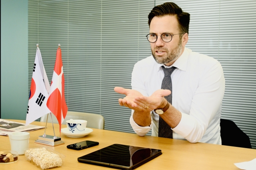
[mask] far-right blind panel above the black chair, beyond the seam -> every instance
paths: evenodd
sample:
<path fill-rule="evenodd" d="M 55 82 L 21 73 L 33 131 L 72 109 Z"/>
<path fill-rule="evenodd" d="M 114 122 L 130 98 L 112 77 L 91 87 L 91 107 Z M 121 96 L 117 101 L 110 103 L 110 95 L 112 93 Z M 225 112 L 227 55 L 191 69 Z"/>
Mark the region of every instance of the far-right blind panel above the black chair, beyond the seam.
<path fill-rule="evenodd" d="M 256 1 L 220 1 L 220 49 L 226 90 L 222 117 L 256 148 Z"/>

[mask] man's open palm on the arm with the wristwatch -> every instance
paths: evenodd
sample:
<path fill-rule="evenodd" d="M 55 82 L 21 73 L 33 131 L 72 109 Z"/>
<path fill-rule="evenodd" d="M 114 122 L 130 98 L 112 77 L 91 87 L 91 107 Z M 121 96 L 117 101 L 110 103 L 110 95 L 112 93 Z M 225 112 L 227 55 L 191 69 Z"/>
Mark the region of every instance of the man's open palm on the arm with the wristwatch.
<path fill-rule="evenodd" d="M 148 106 L 148 109 L 150 111 L 157 109 L 157 108 L 163 108 L 166 104 L 166 100 L 164 99 L 164 96 L 168 96 L 171 94 L 170 90 L 164 90 L 159 89 L 155 91 L 150 97 L 146 96 L 138 96 L 135 97 L 134 103 L 136 103 L 138 106 Z"/>

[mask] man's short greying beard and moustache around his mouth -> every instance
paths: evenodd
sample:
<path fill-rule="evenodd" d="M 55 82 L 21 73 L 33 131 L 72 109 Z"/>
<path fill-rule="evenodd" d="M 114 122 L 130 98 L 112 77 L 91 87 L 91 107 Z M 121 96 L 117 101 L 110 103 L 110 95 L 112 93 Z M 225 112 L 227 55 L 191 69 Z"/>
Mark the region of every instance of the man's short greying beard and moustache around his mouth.
<path fill-rule="evenodd" d="M 156 62 L 158 64 L 167 64 L 171 61 L 174 61 L 176 58 L 178 58 L 180 56 L 180 53 L 182 51 L 182 39 L 180 39 L 177 47 L 172 49 L 172 51 L 170 51 L 170 52 L 169 52 L 168 48 L 164 48 L 164 47 L 162 47 L 162 48 L 161 47 L 155 47 L 154 51 L 156 51 L 156 50 L 166 51 L 166 55 L 164 55 L 162 57 L 158 57 L 157 55 L 155 55 L 155 53 L 151 49 L 152 55 L 153 55 L 154 59 L 156 60 Z"/>

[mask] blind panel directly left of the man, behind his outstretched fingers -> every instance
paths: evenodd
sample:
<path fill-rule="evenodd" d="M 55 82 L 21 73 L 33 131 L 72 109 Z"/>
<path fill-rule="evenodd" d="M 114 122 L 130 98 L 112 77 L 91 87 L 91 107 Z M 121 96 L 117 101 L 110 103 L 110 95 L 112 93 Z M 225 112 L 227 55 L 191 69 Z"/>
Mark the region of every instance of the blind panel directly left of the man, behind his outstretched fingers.
<path fill-rule="evenodd" d="M 153 1 L 150 4 L 146 0 L 102 1 L 100 109 L 110 130 L 134 132 L 129 123 L 131 111 L 119 106 L 117 99 L 123 96 L 114 93 L 113 89 L 115 86 L 131 88 L 134 64 L 139 57 L 150 55 L 145 36 L 148 32 L 147 13 L 153 6 Z M 140 27 L 145 30 L 141 31 Z M 144 46 L 139 47 L 139 41 Z M 139 55 L 139 51 L 146 52 Z"/>

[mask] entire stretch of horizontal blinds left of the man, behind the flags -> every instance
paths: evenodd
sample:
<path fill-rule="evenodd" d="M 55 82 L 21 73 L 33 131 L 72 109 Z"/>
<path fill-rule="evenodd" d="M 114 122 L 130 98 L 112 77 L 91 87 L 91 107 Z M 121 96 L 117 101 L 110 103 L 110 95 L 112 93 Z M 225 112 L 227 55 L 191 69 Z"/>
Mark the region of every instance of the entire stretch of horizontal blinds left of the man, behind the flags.
<path fill-rule="evenodd" d="M 114 87 L 131 88 L 134 64 L 151 55 L 145 36 L 153 7 L 154 0 L 29 0 L 29 77 L 39 43 L 51 81 L 60 43 L 69 111 L 100 114 L 105 129 L 134 133 Z"/>

